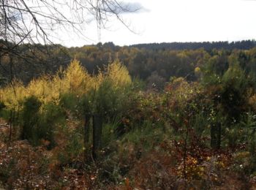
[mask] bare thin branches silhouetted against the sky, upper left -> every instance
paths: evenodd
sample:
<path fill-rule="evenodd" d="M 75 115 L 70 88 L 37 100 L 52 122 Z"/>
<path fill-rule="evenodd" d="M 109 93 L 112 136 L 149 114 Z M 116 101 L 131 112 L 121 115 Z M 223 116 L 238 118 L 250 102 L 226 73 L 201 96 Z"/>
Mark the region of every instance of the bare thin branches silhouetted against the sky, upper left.
<path fill-rule="evenodd" d="M 84 36 L 81 31 L 91 20 L 97 21 L 100 30 L 113 16 L 132 31 L 121 14 L 138 9 L 116 0 L 1 0 L 0 39 L 17 42 L 31 31 L 23 42 L 49 44 L 57 27 L 72 28 Z"/>

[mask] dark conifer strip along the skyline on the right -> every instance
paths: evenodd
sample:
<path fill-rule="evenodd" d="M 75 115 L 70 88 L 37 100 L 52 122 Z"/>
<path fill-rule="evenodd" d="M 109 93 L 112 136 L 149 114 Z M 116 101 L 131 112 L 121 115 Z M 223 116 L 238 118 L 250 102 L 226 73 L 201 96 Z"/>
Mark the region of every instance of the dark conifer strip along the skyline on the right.
<path fill-rule="evenodd" d="M 196 50 L 199 48 L 204 48 L 205 50 L 249 50 L 252 47 L 256 47 L 256 42 L 255 40 L 243 40 L 238 42 L 163 42 L 130 45 L 129 47 L 146 48 L 147 50 Z"/>

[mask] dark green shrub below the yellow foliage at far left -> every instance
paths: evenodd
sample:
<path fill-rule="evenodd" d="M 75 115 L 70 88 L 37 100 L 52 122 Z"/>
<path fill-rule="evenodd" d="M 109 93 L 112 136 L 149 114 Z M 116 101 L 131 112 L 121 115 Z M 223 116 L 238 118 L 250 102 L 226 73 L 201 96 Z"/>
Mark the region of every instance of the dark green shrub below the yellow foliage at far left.
<path fill-rule="evenodd" d="M 48 140 L 48 148 L 53 148 L 54 127 L 64 123 L 64 113 L 59 105 L 42 105 L 35 96 L 30 96 L 23 103 L 21 139 L 29 140 L 31 145 L 40 145 L 41 140 Z"/>

